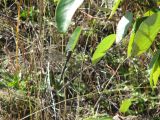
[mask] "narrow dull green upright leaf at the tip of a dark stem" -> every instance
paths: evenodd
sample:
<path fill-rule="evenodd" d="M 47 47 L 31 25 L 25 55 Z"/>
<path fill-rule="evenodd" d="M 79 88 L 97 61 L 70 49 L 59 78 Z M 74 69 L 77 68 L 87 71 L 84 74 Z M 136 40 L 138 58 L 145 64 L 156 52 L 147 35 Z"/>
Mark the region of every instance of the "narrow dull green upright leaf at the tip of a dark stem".
<path fill-rule="evenodd" d="M 66 52 L 68 52 L 68 51 L 73 52 L 73 50 L 78 42 L 81 31 L 82 31 L 82 27 L 79 27 L 79 26 L 74 30 L 74 32 L 72 33 L 72 35 L 69 39 L 69 42 L 66 46 Z"/>

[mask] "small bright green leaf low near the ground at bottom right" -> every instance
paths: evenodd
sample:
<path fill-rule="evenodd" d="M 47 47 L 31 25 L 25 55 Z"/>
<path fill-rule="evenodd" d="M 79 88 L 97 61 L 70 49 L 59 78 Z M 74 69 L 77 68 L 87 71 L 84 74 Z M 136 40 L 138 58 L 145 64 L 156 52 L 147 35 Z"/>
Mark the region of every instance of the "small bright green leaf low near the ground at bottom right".
<path fill-rule="evenodd" d="M 125 113 L 129 110 L 129 107 L 132 105 L 133 99 L 125 99 L 122 101 L 122 104 L 120 105 L 119 111 L 121 113 Z"/>

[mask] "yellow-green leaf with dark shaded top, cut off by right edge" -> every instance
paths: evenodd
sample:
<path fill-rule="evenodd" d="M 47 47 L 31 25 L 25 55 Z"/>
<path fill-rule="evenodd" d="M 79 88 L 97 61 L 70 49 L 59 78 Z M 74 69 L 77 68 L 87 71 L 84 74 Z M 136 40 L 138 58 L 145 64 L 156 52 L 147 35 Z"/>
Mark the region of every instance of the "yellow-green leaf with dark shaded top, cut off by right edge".
<path fill-rule="evenodd" d="M 150 63 L 150 85 L 154 88 L 157 85 L 160 76 L 160 50 L 153 56 Z"/>

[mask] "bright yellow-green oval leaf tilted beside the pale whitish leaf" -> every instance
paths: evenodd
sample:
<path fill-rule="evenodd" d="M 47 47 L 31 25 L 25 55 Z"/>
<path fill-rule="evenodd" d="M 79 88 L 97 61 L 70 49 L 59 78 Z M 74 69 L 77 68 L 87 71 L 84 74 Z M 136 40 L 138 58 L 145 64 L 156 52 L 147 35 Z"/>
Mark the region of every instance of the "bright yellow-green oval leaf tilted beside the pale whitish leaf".
<path fill-rule="evenodd" d="M 92 57 L 92 64 L 96 64 L 107 52 L 107 50 L 111 47 L 116 39 L 115 34 L 111 34 L 105 37 L 97 46 L 96 51 Z"/>

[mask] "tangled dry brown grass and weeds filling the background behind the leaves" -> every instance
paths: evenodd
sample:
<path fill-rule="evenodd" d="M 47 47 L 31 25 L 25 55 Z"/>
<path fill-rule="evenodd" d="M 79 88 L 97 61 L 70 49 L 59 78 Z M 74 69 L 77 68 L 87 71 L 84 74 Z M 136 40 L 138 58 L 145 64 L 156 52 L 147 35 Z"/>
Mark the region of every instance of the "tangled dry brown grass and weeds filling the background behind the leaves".
<path fill-rule="evenodd" d="M 107 6 L 104 0 L 95 3 Z M 86 0 L 68 33 L 60 34 L 56 5 L 54 0 L 0 0 L 0 119 L 80 120 L 95 115 L 158 119 L 159 91 L 152 92 L 146 71 L 149 55 L 126 59 L 126 40 L 114 45 L 97 65 L 91 64 L 97 44 L 115 33 L 123 10 L 136 12 L 143 7 L 138 2 L 124 3 L 107 20 L 107 12 Z M 77 25 L 83 31 L 60 81 L 65 46 Z M 121 101 L 130 97 L 136 102 L 128 113 L 120 114 Z"/>

